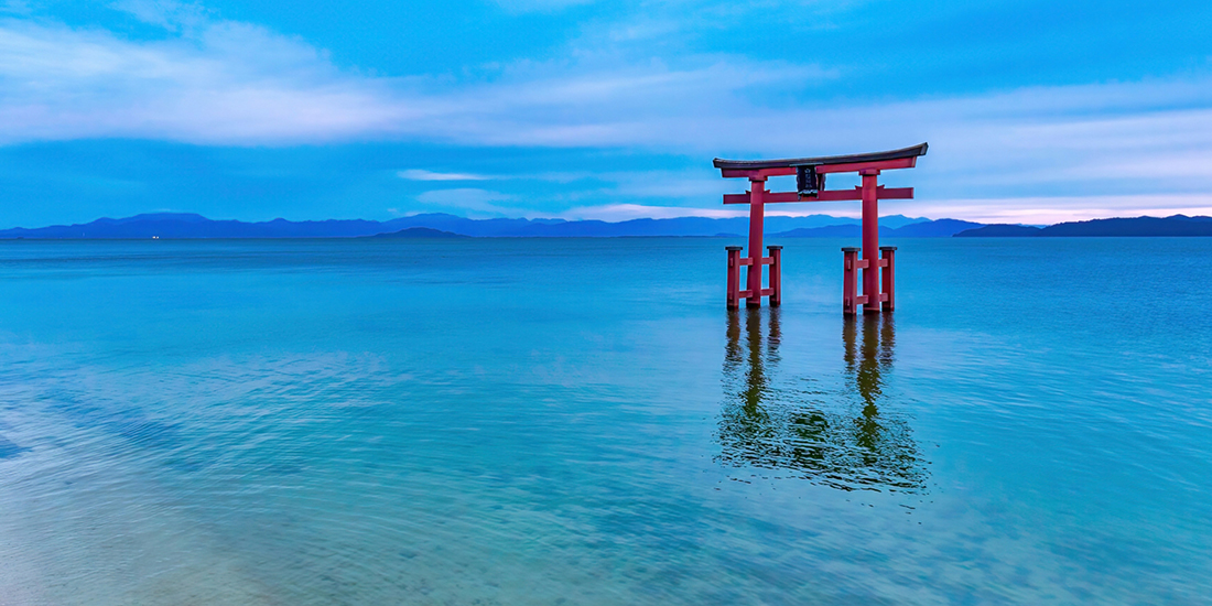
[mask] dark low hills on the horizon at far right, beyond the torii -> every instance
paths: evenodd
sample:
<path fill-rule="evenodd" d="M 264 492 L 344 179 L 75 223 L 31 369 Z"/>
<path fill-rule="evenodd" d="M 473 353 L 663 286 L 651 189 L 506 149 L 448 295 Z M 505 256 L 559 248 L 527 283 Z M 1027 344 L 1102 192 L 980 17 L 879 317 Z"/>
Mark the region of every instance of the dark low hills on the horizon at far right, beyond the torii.
<path fill-rule="evenodd" d="M 1045 228 L 993 224 L 967 229 L 956 238 L 1212 236 L 1212 217 L 1136 217 L 1074 221 Z"/>

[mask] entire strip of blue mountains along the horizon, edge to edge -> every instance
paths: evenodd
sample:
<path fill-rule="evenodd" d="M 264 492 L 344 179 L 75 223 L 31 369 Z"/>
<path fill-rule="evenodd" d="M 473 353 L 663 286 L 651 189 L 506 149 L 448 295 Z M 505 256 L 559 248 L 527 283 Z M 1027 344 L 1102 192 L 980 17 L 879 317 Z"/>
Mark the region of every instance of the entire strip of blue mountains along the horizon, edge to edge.
<path fill-rule="evenodd" d="M 774 238 L 858 238 L 861 222 L 848 217 L 766 217 L 766 234 Z M 469 219 L 429 213 L 391 221 L 328 219 L 257 223 L 212 221 L 201 215 L 154 213 L 121 219 L 103 218 L 75 225 L 0 229 L 0 239 L 221 239 L 221 238 L 619 238 L 619 236 L 741 236 L 749 233 L 744 217 L 713 219 L 605 221 Z M 885 238 L 1022 238 L 1022 236 L 1212 236 L 1212 218 L 1137 217 L 1030 225 L 985 225 L 957 219 L 880 217 Z"/>

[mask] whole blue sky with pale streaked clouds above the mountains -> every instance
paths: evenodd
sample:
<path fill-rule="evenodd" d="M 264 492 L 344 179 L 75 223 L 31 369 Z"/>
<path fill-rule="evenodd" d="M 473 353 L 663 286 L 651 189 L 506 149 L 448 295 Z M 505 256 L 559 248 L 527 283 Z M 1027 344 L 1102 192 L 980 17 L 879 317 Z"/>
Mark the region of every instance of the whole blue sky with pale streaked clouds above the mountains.
<path fill-rule="evenodd" d="M 922 141 L 884 212 L 1212 215 L 1208 30 L 1207 1 L 0 0 L 0 227 L 725 216 L 711 158 Z"/>

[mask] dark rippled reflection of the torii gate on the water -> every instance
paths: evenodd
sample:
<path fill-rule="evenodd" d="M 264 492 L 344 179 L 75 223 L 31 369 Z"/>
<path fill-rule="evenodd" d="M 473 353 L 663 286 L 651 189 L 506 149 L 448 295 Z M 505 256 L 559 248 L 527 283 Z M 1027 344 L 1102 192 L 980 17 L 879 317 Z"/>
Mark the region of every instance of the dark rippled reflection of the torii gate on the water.
<path fill-rule="evenodd" d="M 891 370 L 892 318 L 862 316 L 842 330 L 847 373 L 863 401 L 829 402 L 825 393 L 772 387 L 779 364 L 779 311 L 730 311 L 724 379 L 727 400 L 720 418 L 720 461 L 736 467 L 783 471 L 842 490 L 917 491 L 926 470 L 911 429 L 901 417 L 880 413 L 882 373 Z M 745 344 L 741 343 L 745 314 Z M 858 325 L 862 341 L 858 342 Z"/>

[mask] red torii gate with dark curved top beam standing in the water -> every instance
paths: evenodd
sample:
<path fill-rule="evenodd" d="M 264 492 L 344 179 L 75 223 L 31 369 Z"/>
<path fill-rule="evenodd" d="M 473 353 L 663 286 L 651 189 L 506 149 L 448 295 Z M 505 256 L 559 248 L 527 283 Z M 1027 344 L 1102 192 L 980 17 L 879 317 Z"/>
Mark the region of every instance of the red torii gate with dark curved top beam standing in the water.
<path fill-rule="evenodd" d="M 782 246 L 768 246 L 770 257 L 761 256 L 765 205 L 771 202 L 825 202 L 839 200 L 863 201 L 863 258 L 858 248 L 842 248 L 842 311 L 864 313 L 892 310 L 896 307 L 894 252 L 896 246 L 880 246 L 879 200 L 913 199 L 913 188 L 885 188 L 877 183 L 880 171 L 913 168 L 917 156 L 926 155 L 927 144 L 871 154 L 796 158 L 787 160 L 721 160 L 716 168 L 725 178 L 748 178 L 750 189 L 744 194 L 725 194 L 724 204 L 749 205 L 749 256 L 741 257 L 739 246 L 728 246 L 728 308 L 761 307 L 761 298 L 770 297 L 771 305 L 782 303 Z M 854 189 L 825 189 L 825 175 L 857 172 L 863 184 Z M 796 191 L 766 191 L 766 178 L 796 176 Z M 882 258 L 880 252 L 882 252 Z M 741 290 L 741 267 L 748 265 L 747 288 Z M 770 287 L 761 287 L 761 267 L 770 265 Z M 880 268 L 884 268 L 882 280 Z M 854 273 L 863 270 L 863 295 L 857 292 Z M 881 284 L 882 281 L 882 284 Z M 882 286 L 882 288 L 881 288 Z"/>

